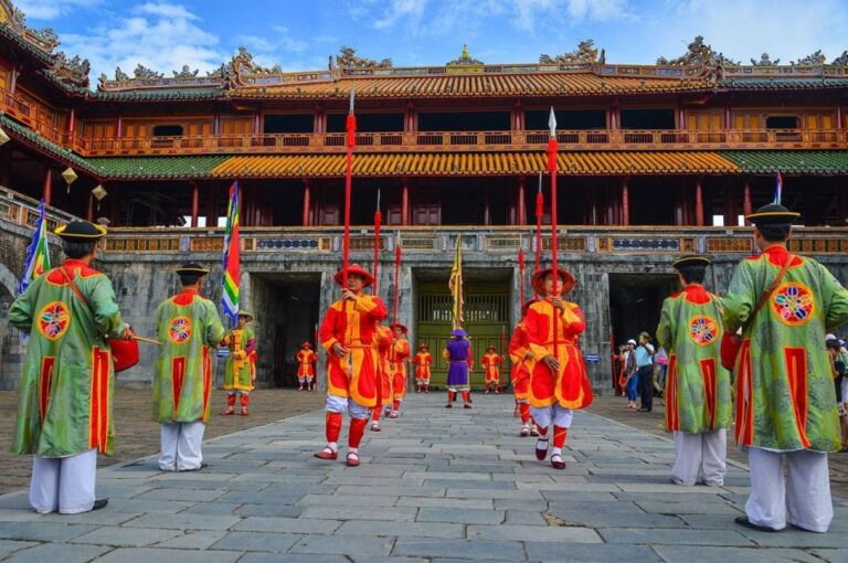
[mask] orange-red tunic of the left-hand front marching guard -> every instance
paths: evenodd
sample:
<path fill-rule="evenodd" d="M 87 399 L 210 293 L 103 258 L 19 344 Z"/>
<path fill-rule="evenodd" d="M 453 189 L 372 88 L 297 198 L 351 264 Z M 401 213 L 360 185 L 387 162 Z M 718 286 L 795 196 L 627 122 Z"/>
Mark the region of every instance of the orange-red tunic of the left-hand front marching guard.
<path fill-rule="evenodd" d="M 356 301 L 340 299 L 327 310 L 318 338 L 328 353 L 328 394 L 369 408 L 377 405 L 377 327 L 385 316 L 385 304 L 372 295 L 360 295 Z M 337 342 L 350 352 L 341 358 L 332 353 Z"/>

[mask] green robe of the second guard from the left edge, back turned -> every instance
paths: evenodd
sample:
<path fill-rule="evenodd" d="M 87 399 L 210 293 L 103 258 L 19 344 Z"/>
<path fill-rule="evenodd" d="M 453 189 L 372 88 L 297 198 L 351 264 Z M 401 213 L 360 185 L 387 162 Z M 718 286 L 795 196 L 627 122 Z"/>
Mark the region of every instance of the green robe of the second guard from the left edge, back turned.
<path fill-rule="evenodd" d="M 214 349 L 224 336 L 215 306 L 194 290 L 183 290 L 156 308 L 162 346 L 153 372 L 153 421 L 209 421 Z"/>

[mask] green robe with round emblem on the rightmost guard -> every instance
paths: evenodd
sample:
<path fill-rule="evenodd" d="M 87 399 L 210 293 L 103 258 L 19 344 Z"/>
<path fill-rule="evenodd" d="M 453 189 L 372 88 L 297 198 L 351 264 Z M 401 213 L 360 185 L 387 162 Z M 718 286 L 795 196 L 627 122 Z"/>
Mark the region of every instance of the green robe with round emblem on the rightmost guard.
<path fill-rule="evenodd" d="M 742 261 L 724 306 L 734 331 L 788 259 L 781 245 Z M 774 452 L 840 447 L 825 334 L 848 321 L 848 290 L 814 259 L 795 256 L 781 284 L 742 334 L 736 358 L 736 442 Z"/>

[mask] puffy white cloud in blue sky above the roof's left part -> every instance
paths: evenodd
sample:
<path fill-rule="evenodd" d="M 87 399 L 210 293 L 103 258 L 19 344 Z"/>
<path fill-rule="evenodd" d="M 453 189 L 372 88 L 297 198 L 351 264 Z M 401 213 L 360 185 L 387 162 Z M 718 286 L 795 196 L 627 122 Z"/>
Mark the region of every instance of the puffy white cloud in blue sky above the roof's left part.
<path fill-rule="evenodd" d="M 201 19 L 181 4 L 148 2 L 131 12 L 85 35 L 64 34 L 62 49 L 88 59 L 95 77 L 102 73 L 112 77 L 116 66 L 131 75 L 137 64 L 166 75 L 182 65 L 203 73 L 232 56 L 221 51 L 215 34 L 200 26 Z"/>

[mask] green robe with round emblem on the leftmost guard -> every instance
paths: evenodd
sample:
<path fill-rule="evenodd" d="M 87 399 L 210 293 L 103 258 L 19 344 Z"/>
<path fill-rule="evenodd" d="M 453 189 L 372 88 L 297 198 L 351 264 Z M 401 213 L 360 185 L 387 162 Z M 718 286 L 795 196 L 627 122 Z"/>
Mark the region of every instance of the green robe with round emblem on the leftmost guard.
<path fill-rule="evenodd" d="M 12 452 L 65 457 L 97 448 L 112 454 L 115 372 L 105 338 L 117 338 L 120 318 L 112 282 L 81 261 L 36 278 L 9 309 L 9 321 L 29 332 L 18 396 Z"/>

